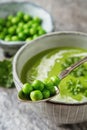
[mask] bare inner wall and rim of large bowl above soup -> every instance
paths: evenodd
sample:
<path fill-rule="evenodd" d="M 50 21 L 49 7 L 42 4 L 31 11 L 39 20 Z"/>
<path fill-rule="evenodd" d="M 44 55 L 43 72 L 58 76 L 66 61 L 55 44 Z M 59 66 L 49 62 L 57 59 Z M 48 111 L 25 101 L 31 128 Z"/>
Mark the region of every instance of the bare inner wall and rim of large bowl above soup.
<path fill-rule="evenodd" d="M 22 87 L 20 75 L 24 64 L 36 54 L 56 47 L 77 47 L 87 49 L 87 35 L 82 33 L 52 33 L 44 35 L 29 44 L 23 46 L 15 55 L 13 61 L 13 76 L 19 84 L 18 91 Z"/>

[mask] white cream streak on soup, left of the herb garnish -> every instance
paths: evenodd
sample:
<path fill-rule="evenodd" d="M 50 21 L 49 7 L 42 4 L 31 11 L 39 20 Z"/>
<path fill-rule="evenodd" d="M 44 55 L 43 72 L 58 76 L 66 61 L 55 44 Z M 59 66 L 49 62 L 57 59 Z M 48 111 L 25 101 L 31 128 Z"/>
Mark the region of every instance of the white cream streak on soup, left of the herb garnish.
<path fill-rule="evenodd" d="M 54 65 L 55 60 L 57 58 L 58 59 L 62 58 L 62 54 L 66 53 L 66 52 L 67 52 L 67 50 L 62 50 L 62 51 L 56 53 L 55 55 L 51 56 L 50 58 L 47 58 L 47 56 L 42 58 L 40 65 L 36 68 L 37 69 L 36 79 L 43 80 L 43 79 L 47 78 L 48 72 L 51 70 L 51 67 Z"/>

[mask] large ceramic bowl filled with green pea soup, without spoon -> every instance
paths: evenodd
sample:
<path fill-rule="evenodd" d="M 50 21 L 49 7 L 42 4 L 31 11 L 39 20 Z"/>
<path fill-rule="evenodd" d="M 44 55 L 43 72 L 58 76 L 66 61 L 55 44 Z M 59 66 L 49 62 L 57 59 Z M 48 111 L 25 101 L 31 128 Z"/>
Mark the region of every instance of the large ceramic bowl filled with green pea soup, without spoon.
<path fill-rule="evenodd" d="M 13 60 L 17 91 L 26 83 L 58 76 L 85 56 L 87 34 L 81 32 L 54 32 L 31 41 Z M 87 121 L 87 62 L 61 80 L 58 88 L 59 94 L 51 100 L 30 104 L 38 116 L 54 125 Z"/>

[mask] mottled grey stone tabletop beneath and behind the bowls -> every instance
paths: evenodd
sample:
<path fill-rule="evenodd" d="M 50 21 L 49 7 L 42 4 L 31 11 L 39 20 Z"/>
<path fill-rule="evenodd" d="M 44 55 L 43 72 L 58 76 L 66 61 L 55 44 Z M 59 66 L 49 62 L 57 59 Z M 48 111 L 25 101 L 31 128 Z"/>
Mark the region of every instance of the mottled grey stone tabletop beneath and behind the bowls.
<path fill-rule="evenodd" d="M 56 31 L 87 32 L 86 0 L 28 1 L 41 5 L 52 14 Z M 0 60 L 2 58 L 3 52 L 0 50 Z M 87 130 L 87 122 L 63 126 L 48 124 L 46 120 L 39 118 L 29 104 L 18 101 L 15 88 L 0 87 L 0 130 Z"/>

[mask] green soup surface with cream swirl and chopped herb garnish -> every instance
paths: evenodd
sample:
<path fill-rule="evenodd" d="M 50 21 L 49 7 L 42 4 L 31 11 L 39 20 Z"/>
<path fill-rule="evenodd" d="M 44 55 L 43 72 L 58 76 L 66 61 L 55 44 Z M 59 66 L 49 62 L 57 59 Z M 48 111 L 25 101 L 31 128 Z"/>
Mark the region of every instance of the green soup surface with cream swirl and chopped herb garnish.
<path fill-rule="evenodd" d="M 53 48 L 32 57 L 21 72 L 22 83 L 35 79 L 44 81 L 87 56 L 87 50 L 80 48 Z M 60 94 L 53 101 L 83 102 L 87 101 L 87 62 L 72 71 L 59 84 Z"/>

